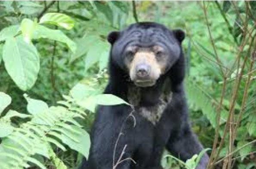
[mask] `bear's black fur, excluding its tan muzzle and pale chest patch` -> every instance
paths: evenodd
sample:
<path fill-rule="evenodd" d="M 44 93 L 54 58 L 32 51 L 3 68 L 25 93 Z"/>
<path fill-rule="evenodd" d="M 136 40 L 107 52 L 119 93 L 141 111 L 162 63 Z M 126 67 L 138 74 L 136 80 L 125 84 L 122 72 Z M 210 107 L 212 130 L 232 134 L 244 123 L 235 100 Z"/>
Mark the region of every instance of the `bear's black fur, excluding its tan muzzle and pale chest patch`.
<path fill-rule="evenodd" d="M 203 149 L 188 122 L 183 87 L 185 61 L 181 46 L 184 38 L 182 30 L 172 31 L 150 22 L 132 24 L 121 32 L 110 33 L 110 79 L 104 93 L 129 101 L 128 90 L 134 85 L 129 80 L 123 62 L 126 45 L 162 45 L 169 51 L 170 62 L 167 71 L 154 86 L 139 89 L 140 100 L 138 105 L 134 105 L 134 112 L 123 104 L 98 107 L 91 133 L 89 159 L 83 162 L 81 169 L 114 169 L 115 165 L 115 169 L 161 169 L 160 159 L 164 148 L 184 161 Z M 172 92 L 172 99 L 154 125 L 141 116 L 138 110 L 140 107 L 157 105 L 160 95 L 166 91 Z M 120 132 L 123 134 L 120 135 Z M 124 147 L 123 156 L 119 159 Z M 123 162 L 117 165 L 118 160 Z M 205 169 L 207 161 L 208 156 L 205 154 L 197 169 Z"/>

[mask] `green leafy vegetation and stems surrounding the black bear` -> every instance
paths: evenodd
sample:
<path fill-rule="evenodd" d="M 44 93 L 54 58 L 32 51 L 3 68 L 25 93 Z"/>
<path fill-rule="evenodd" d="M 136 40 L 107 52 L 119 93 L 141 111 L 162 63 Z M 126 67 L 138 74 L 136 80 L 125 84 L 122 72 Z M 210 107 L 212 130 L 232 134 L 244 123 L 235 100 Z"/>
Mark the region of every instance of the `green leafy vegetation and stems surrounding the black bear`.
<path fill-rule="evenodd" d="M 254 1 L 1 1 L 0 169 L 80 165 L 95 106 L 127 104 L 100 94 L 106 36 L 136 21 L 186 31 L 190 116 L 208 168 L 256 168 Z"/>

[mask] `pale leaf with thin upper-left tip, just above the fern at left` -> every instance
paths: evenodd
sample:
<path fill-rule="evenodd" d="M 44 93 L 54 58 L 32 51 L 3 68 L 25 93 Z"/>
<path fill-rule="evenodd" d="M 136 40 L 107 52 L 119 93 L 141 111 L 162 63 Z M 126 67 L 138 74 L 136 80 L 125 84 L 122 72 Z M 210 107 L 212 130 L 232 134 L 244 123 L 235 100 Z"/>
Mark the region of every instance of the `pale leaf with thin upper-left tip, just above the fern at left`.
<path fill-rule="evenodd" d="M 27 110 L 30 114 L 35 115 L 49 109 L 48 105 L 44 101 L 29 98 L 26 94 L 24 94 L 24 97 L 28 101 Z"/>

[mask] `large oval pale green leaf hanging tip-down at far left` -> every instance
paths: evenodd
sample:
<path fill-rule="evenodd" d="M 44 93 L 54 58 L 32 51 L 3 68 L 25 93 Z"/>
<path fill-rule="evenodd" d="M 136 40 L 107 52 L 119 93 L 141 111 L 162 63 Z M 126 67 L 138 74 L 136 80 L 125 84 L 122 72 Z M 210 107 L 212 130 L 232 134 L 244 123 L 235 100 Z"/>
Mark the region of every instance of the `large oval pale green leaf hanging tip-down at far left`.
<path fill-rule="evenodd" d="M 16 85 L 26 91 L 37 80 L 40 68 L 39 55 L 33 44 L 20 38 L 8 38 L 3 46 L 3 62 Z"/>

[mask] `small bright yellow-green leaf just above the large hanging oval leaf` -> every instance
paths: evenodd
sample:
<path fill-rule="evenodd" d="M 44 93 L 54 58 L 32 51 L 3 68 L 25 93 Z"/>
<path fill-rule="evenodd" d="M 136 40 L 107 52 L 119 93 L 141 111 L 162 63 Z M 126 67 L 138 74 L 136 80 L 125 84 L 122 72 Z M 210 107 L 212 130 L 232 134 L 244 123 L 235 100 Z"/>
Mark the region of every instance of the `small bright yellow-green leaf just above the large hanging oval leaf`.
<path fill-rule="evenodd" d="M 23 19 L 21 23 L 21 30 L 24 41 L 27 43 L 31 43 L 32 36 L 34 34 L 34 30 L 36 27 L 36 23 L 31 21 L 30 19 Z"/>

